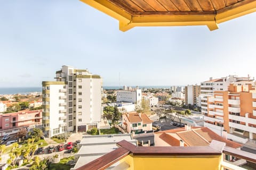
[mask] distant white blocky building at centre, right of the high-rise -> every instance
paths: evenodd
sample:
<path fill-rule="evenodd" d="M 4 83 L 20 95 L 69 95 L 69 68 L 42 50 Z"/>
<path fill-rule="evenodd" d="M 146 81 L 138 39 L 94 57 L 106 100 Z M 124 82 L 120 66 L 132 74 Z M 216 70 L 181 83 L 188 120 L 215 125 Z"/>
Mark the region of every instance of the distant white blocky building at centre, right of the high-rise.
<path fill-rule="evenodd" d="M 116 101 L 127 101 L 134 104 L 141 104 L 141 89 L 117 90 Z"/>

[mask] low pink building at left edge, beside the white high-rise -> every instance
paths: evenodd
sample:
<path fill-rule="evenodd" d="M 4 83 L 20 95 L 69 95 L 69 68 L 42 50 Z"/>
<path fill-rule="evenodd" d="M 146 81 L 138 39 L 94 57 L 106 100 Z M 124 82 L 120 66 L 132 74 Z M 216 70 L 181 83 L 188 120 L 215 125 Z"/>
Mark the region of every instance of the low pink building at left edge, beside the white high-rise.
<path fill-rule="evenodd" d="M 0 114 L 0 135 L 15 133 L 15 129 L 42 124 L 42 109 Z"/>

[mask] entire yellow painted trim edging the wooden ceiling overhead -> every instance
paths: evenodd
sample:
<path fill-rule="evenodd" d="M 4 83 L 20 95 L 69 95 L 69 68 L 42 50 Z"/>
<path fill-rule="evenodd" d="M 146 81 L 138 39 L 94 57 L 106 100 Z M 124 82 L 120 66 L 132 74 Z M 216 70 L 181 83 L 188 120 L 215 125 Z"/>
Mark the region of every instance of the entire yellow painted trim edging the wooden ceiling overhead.
<path fill-rule="evenodd" d="M 119 30 L 127 31 L 134 27 L 206 25 L 211 31 L 218 29 L 218 23 L 235 19 L 256 11 L 256 1 L 244 0 L 217 11 L 216 14 L 170 14 L 132 15 L 107 0 L 80 0 L 119 21 Z"/>

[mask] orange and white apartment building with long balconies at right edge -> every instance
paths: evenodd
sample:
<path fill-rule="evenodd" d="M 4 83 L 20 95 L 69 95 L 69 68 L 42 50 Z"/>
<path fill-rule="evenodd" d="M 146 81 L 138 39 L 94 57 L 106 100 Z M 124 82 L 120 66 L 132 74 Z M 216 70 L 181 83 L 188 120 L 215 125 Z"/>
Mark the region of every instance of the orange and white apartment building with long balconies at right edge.
<path fill-rule="evenodd" d="M 256 91 L 252 84 L 230 84 L 228 91 L 214 91 L 207 109 L 205 127 L 242 143 L 245 138 L 256 139 Z"/>

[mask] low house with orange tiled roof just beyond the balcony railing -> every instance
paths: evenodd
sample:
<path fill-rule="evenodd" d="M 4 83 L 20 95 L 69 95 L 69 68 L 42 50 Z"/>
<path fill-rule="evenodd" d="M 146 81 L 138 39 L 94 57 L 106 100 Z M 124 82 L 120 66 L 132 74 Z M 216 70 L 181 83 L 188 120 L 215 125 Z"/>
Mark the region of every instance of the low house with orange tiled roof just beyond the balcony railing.
<path fill-rule="evenodd" d="M 172 129 L 166 131 L 159 131 L 154 133 L 155 146 L 182 146 L 182 147 L 199 147 L 209 146 L 210 143 L 220 141 L 225 143 L 227 147 L 240 150 L 243 146 L 240 143 L 227 140 L 217 133 L 211 131 L 206 127 L 191 127 L 185 126 L 185 128 Z M 237 159 L 229 155 L 225 155 L 225 160 L 231 161 L 236 165 L 243 165 L 245 160 Z"/>

